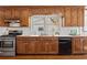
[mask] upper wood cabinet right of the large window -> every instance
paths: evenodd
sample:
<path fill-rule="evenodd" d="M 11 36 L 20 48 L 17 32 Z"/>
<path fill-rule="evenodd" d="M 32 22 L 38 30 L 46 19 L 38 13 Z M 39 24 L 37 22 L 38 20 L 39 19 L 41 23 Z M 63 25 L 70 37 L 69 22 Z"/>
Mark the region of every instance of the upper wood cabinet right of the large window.
<path fill-rule="evenodd" d="M 84 7 L 65 7 L 65 26 L 84 25 Z"/>

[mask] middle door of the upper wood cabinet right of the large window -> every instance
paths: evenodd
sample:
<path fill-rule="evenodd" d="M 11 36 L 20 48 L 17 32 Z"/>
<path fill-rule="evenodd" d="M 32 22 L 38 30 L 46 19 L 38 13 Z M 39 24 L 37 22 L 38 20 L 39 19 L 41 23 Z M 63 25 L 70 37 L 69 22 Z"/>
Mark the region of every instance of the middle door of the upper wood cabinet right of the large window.
<path fill-rule="evenodd" d="M 78 15 L 77 15 L 77 8 L 72 8 L 72 22 L 70 22 L 70 25 L 72 26 L 77 26 L 78 25 Z"/>

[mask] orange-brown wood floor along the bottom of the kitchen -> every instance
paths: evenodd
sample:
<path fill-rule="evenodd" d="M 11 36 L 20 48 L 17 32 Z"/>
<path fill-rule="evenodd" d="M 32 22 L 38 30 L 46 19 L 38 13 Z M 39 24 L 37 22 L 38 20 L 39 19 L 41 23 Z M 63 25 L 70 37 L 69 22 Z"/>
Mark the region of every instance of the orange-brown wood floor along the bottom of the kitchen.
<path fill-rule="evenodd" d="M 0 59 L 87 59 L 87 55 L 17 55 L 0 57 Z"/>

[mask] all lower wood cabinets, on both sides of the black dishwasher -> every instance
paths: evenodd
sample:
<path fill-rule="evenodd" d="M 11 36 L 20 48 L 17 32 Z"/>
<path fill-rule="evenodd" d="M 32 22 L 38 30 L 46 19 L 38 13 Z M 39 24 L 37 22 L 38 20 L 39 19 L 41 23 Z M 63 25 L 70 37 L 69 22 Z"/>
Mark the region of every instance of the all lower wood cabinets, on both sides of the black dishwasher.
<path fill-rule="evenodd" d="M 18 54 L 58 54 L 58 37 L 17 37 Z M 87 37 L 72 39 L 72 54 L 87 54 Z"/>

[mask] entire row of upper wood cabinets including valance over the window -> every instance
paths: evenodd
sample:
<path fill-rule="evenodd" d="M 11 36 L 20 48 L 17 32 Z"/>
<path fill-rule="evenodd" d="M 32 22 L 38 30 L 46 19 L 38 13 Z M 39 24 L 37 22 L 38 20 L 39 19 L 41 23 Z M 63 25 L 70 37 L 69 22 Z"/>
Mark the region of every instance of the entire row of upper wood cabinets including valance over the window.
<path fill-rule="evenodd" d="M 31 15 L 62 14 L 64 26 L 84 26 L 84 7 L 0 7 L 0 26 L 4 19 L 20 19 L 21 26 L 30 26 Z"/>

